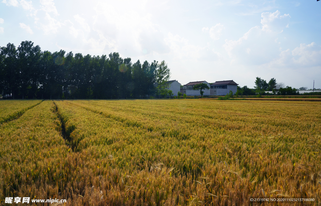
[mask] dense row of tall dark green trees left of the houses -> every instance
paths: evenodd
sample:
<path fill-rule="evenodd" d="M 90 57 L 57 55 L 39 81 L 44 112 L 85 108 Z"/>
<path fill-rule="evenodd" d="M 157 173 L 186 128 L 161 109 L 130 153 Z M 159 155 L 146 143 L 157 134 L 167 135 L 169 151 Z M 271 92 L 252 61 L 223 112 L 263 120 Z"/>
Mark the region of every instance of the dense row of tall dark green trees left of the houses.
<path fill-rule="evenodd" d="M 165 61 L 132 63 L 117 52 L 52 53 L 31 41 L 0 48 L 1 99 L 141 99 L 157 95 L 169 77 Z"/>

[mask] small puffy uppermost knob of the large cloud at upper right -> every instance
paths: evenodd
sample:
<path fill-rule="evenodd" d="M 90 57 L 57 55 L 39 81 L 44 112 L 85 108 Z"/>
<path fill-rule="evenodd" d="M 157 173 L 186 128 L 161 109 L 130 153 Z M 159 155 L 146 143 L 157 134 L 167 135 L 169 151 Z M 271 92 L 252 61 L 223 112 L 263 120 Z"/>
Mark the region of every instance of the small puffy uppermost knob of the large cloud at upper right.
<path fill-rule="evenodd" d="M 261 14 L 261 24 L 262 31 L 266 32 L 276 32 L 282 33 L 285 27 L 289 27 L 288 21 L 290 20 L 290 14 L 284 14 L 280 16 L 280 12 L 276 10 L 276 12 L 264 12 Z"/>

